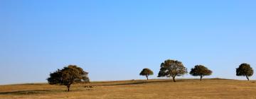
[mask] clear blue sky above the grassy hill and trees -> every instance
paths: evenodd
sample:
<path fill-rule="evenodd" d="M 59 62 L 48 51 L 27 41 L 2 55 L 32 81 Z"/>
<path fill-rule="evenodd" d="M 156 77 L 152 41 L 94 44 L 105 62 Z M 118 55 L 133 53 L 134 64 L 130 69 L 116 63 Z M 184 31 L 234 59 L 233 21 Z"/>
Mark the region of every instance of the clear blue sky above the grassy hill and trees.
<path fill-rule="evenodd" d="M 76 64 L 91 81 L 157 78 L 161 62 L 196 64 L 209 78 L 256 70 L 255 0 L 0 0 L 0 84 L 46 82 Z M 193 78 L 189 74 L 178 78 Z M 256 78 L 256 75 L 251 77 Z"/>

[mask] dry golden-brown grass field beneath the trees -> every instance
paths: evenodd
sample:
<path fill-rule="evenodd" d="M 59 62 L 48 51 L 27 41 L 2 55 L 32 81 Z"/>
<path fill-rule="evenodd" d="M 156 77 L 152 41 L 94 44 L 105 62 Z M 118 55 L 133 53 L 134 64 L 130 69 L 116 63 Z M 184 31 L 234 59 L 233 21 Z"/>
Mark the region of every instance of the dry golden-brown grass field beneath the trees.
<path fill-rule="evenodd" d="M 93 88 L 85 88 L 93 86 Z M 256 98 L 255 81 L 225 79 L 169 79 L 105 81 L 71 86 L 51 86 L 31 83 L 0 86 L 0 98 L 93 98 L 93 99 L 149 99 L 149 98 Z"/>

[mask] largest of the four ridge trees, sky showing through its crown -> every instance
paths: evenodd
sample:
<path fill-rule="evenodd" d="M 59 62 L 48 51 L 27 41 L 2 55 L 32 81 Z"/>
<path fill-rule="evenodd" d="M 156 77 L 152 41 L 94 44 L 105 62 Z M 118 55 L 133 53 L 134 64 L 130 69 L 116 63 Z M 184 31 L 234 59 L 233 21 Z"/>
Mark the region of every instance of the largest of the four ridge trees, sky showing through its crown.
<path fill-rule="evenodd" d="M 188 73 L 187 69 L 181 62 L 177 60 L 168 59 L 161 63 L 161 69 L 159 71 L 158 77 L 167 76 L 172 77 L 174 82 L 176 76 L 182 76 L 183 74 Z"/>

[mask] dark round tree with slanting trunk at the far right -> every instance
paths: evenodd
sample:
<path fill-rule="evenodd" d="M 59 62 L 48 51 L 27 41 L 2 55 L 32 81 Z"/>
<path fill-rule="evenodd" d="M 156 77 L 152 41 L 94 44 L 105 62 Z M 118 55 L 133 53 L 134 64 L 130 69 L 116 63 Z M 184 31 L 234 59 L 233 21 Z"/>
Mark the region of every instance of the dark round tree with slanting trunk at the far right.
<path fill-rule="evenodd" d="M 247 80 L 249 81 L 249 76 L 253 75 L 253 69 L 250 67 L 250 64 L 240 64 L 240 66 L 236 69 L 237 76 L 246 76 Z"/>

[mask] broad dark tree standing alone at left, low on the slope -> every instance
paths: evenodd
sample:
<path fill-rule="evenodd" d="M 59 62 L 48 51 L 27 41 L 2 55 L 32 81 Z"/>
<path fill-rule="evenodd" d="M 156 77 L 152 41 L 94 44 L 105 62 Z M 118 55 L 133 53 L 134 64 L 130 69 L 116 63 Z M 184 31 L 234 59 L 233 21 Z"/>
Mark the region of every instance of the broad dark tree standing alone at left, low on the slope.
<path fill-rule="evenodd" d="M 67 86 L 66 91 L 70 91 L 70 86 L 73 83 L 81 82 L 82 78 L 87 72 L 83 71 L 82 68 L 76 65 L 65 66 L 63 69 L 58 69 L 57 71 L 50 73 L 50 77 L 47 81 L 50 85 L 59 84 Z"/>

